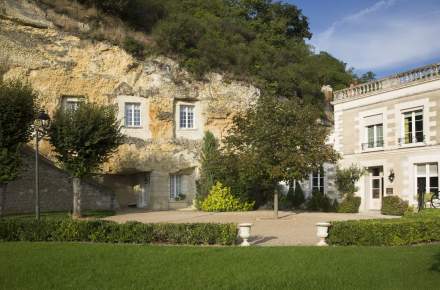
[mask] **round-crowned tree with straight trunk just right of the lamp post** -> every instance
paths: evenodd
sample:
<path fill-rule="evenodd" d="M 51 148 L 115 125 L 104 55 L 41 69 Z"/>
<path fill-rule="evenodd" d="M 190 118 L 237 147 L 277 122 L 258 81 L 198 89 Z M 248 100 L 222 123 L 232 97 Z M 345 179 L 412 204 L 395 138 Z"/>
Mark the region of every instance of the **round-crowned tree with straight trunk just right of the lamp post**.
<path fill-rule="evenodd" d="M 123 141 L 113 107 L 81 104 L 55 112 L 48 132 L 57 159 L 73 177 L 73 217 L 81 216 L 81 182 Z"/>

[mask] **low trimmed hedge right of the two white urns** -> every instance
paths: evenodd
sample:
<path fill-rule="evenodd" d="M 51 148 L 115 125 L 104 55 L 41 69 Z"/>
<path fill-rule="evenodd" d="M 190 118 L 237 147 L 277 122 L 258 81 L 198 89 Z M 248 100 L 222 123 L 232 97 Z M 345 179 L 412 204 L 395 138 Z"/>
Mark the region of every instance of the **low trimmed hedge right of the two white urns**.
<path fill-rule="evenodd" d="M 401 246 L 440 241 L 440 218 L 332 222 L 327 241 L 340 246 Z"/>

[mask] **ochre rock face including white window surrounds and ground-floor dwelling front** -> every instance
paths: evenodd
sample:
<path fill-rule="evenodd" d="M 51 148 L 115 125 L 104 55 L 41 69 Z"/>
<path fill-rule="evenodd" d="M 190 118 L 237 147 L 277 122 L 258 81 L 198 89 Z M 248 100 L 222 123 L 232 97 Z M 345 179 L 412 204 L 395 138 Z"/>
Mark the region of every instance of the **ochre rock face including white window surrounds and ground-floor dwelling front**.
<path fill-rule="evenodd" d="M 140 126 L 124 127 L 131 138 L 104 165 L 100 179 L 115 189 L 121 206 L 169 209 L 190 203 L 204 131 L 223 137 L 234 113 L 259 95 L 255 87 L 218 74 L 195 80 L 166 57 L 140 62 L 117 46 L 66 34 L 24 0 L 0 0 L 0 60 L 4 79 L 30 82 L 49 115 L 68 98 L 81 97 L 118 106 L 124 124 L 125 106 L 139 105 Z M 192 128 L 179 125 L 187 106 L 194 110 Z M 49 146 L 42 147 L 50 158 Z M 170 199 L 173 191 L 185 201 Z"/>

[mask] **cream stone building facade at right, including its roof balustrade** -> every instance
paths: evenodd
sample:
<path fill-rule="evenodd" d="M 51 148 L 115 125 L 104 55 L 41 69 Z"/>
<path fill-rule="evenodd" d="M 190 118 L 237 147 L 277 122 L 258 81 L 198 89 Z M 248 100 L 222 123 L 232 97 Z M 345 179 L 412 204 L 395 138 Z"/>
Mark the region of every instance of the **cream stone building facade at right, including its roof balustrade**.
<path fill-rule="evenodd" d="M 367 169 L 360 210 L 379 210 L 388 195 L 417 206 L 438 192 L 440 64 L 336 91 L 333 105 L 339 165 Z"/>

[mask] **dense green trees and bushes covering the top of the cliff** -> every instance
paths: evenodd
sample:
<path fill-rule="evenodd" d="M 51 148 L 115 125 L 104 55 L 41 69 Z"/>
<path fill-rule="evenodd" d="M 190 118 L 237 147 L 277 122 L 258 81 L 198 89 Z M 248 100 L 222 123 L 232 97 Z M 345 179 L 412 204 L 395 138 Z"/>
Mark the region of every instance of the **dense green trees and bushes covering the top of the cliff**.
<path fill-rule="evenodd" d="M 295 5 L 271 0 L 79 0 L 151 34 L 157 52 L 203 78 L 247 80 L 271 96 L 322 104 L 321 87 L 355 80 L 346 65 L 306 44 L 309 23 Z M 133 44 L 133 43 L 132 43 Z M 135 46 L 141 46 L 137 43 Z M 126 46 L 138 55 L 139 47 Z"/>

